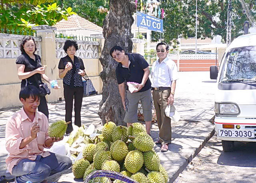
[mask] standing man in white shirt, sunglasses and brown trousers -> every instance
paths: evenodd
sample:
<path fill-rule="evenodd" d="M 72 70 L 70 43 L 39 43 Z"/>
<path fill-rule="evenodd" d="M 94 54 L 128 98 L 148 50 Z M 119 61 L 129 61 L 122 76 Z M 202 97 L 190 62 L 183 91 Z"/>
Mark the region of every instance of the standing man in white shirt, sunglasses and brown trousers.
<path fill-rule="evenodd" d="M 164 110 L 174 102 L 178 69 L 174 61 L 168 59 L 169 46 L 166 43 L 156 45 L 156 54 L 159 57 L 152 65 L 152 89 L 153 100 L 156 109 L 156 118 L 159 128 L 159 140 L 156 144 L 162 144 L 161 151 L 168 151 L 168 144 L 172 140 L 171 119 L 165 115 Z"/>

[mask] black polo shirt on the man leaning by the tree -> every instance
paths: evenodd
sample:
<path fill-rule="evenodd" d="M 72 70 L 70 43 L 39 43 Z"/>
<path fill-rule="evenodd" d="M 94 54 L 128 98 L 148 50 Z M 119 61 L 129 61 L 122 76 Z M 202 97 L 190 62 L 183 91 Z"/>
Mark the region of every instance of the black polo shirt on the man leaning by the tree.
<path fill-rule="evenodd" d="M 127 82 L 141 83 L 144 75 L 143 69 L 148 67 L 147 61 L 138 53 L 128 53 L 126 55 L 128 55 L 131 63 L 129 65 L 129 69 L 122 67 L 122 64 L 118 63 L 116 67 L 116 79 L 118 85 L 124 83 L 125 80 Z M 150 88 L 151 82 L 148 78 L 144 87 L 138 92 L 147 91 Z"/>

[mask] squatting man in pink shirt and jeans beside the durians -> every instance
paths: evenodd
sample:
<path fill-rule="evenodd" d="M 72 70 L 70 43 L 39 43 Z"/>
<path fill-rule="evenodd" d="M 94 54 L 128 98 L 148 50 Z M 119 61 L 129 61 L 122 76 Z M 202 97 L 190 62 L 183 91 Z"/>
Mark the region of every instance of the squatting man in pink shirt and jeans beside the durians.
<path fill-rule="evenodd" d="M 69 157 L 44 152 L 61 139 L 48 136 L 48 119 L 36 109 L 40 94 L 36 87 L 23 87 L 20 91 L 23 108 L 13 114 L 6 124 L 6 150 L 10 153 L 6 164 L 16 182 L 40 183 L 54 173 L 72 165 Z"/>

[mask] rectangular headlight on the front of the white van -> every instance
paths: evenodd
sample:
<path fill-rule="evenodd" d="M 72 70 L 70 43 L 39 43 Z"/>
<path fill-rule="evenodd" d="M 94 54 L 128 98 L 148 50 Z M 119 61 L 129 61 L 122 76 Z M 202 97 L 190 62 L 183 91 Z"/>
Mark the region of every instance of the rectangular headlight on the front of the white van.
<path fill-rule="evenodd" d="M 236 103 L 215 103 L 215 114 L 239 114 L 240 110 Z"/>

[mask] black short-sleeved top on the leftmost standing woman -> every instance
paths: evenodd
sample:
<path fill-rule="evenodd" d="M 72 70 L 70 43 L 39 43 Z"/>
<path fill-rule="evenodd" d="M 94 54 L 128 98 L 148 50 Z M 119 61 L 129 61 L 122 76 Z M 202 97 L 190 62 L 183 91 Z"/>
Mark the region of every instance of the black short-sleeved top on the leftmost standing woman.
<path fill-rule="evenodd" d="M 16 64 L 25 65 L 24 73 L 27 73 L 27 72 L 30 72 L 30 71 L 34 71 L 35 69 L 38 69 L 39 67 L 42 67 L 40 56 L 36 55 L 36 54 L 34 54 L 34 55 L 36 57 L 36 60 L 30 58 L 28 56 L 28 54 L 26 54 L 26 53 L 22 53 L 22 55 L 20 55 L 17 58 Z M 41 79 L 41 74 L 36 73 L 36 74 L 28 77 L 27 79 L 22 79 L 21 87 L 26 87 L 26 86 L 29 86 L 29 85 L 33 85 L 33 86 L 38 88 L 39 86 L 36 83 L 36 80 L 35 80 L 34 76 L 36 76 L 39 85 L 44 84 L 42 82 L 42 79 Z"/>

